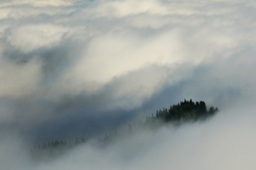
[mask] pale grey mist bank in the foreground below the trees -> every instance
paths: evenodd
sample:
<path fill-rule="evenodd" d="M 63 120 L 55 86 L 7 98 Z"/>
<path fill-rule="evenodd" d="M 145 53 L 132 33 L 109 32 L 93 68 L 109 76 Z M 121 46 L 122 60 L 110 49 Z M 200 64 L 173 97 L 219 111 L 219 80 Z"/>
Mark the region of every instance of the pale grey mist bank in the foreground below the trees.
<path fill-rule="evenodd" d="M 34 163 L 16 141 L 1 140 L 6 169 L 254 169 L 255 108 L 234 107 L 203 122 L 139 130 L 101 147 L 92 140 L 53 161 Z M 241 115 L 240 113 L 244 113 Z M 5 151 L 8 152 L 5 152 Z M 26 153 L 26 154 L 25 154 Z M 11 160 L 11 164 L 9 164 Z"/>

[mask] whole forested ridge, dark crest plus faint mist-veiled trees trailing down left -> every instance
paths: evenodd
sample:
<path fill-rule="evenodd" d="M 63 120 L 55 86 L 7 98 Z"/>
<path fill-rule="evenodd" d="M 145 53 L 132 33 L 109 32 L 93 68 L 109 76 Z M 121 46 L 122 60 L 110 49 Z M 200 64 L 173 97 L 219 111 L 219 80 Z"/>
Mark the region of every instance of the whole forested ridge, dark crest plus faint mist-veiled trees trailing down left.
<path fill-rule="evenodd" d="M 151 115 L 147 115 L 145 120 L 137 120 L 137 122 L 129 123 L 127 132 L 134 132 L 139 128 L 144 127 L 152 127 L 157 128 L 161 125 L 165 125 L 167 123 L 172 123 L 174 125 L 182 125 L 183 123 L 193 123 L 196 121 L 203 121 L 207 118 L 212 117 L 215 113 L 218 112 L 218 108 L 214 108 L 210 106 L 207 109 L 206 103 L 204 101 L 192 101 L 190 99 L 187 101 L 181 101 L 178 104 L 174 104 L 169 108 L 161 108 L 156 111 L 156 113 L 152 113 Z M 112 140 L 117 137 L 119 134 L 118 130 L 114 130 L 108 134 L 105 134 L 104 137 L 100 137 L 98 139 L 101 143 L 112 142 Z M 57 156 L 63 154 L 68 149 L 73 148 L 77 145 L 87 142 L 86 138 L 75 137 L 74 142 L 67 142 L 64 140 L 55 140 L 52 142 L 43 142 L 41 145 L 37 145 L 31 149 L 31 153 L 34 158 L 41 158 L 42 156 Z"/>

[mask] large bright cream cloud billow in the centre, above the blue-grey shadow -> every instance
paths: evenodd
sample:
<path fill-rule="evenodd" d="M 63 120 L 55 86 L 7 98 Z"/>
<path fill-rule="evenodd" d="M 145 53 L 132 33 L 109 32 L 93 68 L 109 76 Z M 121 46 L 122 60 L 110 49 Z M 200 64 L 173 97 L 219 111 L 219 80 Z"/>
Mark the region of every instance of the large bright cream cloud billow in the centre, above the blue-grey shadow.
<path fill-rule="evenodd" d="M 151 64 L 168 67 L 174 63 L 198 63 L 198 58 L 187 58 L 187 61 L 184 59 L 189 56 L 183 48 L 181 33 L 179 30 L 169 30 L 141 37 L 132 32 L 126 33 L 124 30 L 121 33 L 99 35 L 92 39 L 84 56 L 78 60 L 63 81 L 70 82 L 66 84 L 67 88 L 75 89 L 78 93 L 97 91 L 113 79 L 118 79 L 129 72 L 139 72 Z M 165 76 L 159 74 L 158 77 Z M 157 78 L 152 77 L 151 84 L 154 84 L 153 79 Z"/>

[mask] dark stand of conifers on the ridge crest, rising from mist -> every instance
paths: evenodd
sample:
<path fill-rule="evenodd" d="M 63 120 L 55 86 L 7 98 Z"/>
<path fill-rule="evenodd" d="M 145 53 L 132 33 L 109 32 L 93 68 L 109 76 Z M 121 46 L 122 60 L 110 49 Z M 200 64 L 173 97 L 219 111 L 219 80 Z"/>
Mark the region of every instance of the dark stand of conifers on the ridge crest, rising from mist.
<path fill-rule="evenodd" d="M 184 99 L 184 101 L 174 104 L 169 108 L 161 108 L 156 113 L 146 115 L 145 120 L 129 123 L 128 130 L 131 132 L 143 127 L 157 128 L 163 125 L 163 123 L 181 125 L 182 123 L 203 121 L 212 117 L 217 112 L 218 108 L 214 108 L 213 106 L 207 109 L 204 101 L 194 102 L 192 99 L 189 101 Z M 112 132 L 109 135 L 105 135 L 105 139 L 111 139 L 114 136 L 113 134 Z"/>

